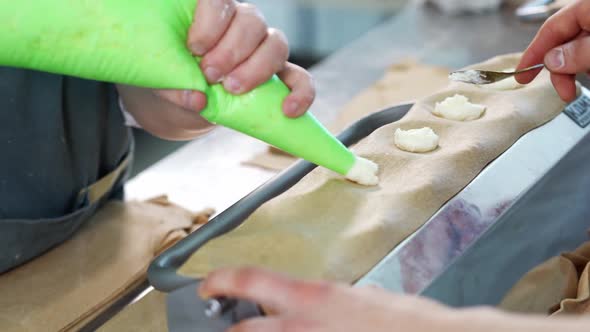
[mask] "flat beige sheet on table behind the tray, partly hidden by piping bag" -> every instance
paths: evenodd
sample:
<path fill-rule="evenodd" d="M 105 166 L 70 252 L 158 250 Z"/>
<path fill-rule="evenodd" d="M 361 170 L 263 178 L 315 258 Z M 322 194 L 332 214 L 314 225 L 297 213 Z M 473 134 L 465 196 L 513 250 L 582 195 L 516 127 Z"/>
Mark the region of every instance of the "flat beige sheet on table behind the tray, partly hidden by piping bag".
<path fill-rule="evenodd" d="M 328 129 L 338 134 L 361 118 L 386 107 L 423 98 L 448 83 L 449 70 L 426 65 L 415 60 L 404 60 L 389 67 L 383 78 L 354 97 L 339 113 Z M 270 148 L 245 161 L 245 165 L 268 170 L 283 170 L 295 158 Z"/>

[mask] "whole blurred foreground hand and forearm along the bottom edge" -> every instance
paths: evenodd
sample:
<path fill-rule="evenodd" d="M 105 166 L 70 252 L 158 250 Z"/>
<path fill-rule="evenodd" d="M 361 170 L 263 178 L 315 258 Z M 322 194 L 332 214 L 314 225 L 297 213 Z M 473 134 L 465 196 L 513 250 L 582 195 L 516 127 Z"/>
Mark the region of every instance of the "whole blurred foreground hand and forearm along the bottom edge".
<path fill-rule="evenodd" d="M 271 313 L 228 332 L 585 332 L 590 326 L 589 318 L 518 316 L 483 307 L 449 309 L 383 289 L 295 281 L 252 268 L 213 272 L 201 283 L 199 294 L 249 300 Z"/>

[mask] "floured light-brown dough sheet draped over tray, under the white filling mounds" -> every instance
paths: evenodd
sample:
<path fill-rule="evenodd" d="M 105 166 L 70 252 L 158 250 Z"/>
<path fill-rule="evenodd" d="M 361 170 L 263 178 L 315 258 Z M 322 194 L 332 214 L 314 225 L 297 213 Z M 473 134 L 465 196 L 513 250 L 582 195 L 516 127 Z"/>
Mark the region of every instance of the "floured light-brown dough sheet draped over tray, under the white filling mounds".
<path fill-rule="evenodd" d="M 475 67 L 502 69 L 518 60 L 519 55 L 507 55 Z M 469 122 L 432 114 L 436 102 L 456 93 L 486 105 L 487 112 Z M 203 277 L 221 267 L 251 265 L 305 279 L 354 282 L 522 135 L 564 107 L 547 72 L 514 91 L 450 83 L 354 148 L 379 164 L 379 186 L 361 187 L 316 169 L 241 227 L 196 252 L 180 273 Z M 400 151 L 393 143 L 400 127 L 432 128 L 440 136 L 439 149 Z"/>

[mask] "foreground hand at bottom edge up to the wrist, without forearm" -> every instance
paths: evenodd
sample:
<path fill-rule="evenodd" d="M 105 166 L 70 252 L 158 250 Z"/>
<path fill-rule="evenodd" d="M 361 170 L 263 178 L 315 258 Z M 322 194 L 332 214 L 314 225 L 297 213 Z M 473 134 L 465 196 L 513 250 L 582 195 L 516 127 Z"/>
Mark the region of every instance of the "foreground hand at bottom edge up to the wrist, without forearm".
<path fill-rule="evenodd" d="M 418 297 L 378 288 L 295 281 L 251 268 L 214 272 L 199 293 L 203 298 L 249 300 L 272 313 L 244 321 L 228 332 L 451 331 L 453 317 L 451 310 Z"/>

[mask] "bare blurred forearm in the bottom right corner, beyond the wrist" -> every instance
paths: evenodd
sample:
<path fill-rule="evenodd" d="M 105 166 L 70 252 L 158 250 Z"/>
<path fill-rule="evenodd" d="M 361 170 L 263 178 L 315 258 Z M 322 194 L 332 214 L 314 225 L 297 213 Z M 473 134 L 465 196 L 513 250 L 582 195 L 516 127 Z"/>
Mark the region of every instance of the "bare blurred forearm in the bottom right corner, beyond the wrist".
<path fill-rule="evenodd" d="M 494 309 L 465 309 L 453 315 L 453 332 L 585 332 L 590 329 L 590 318 L 584 316 L 516 315 Z"/>

